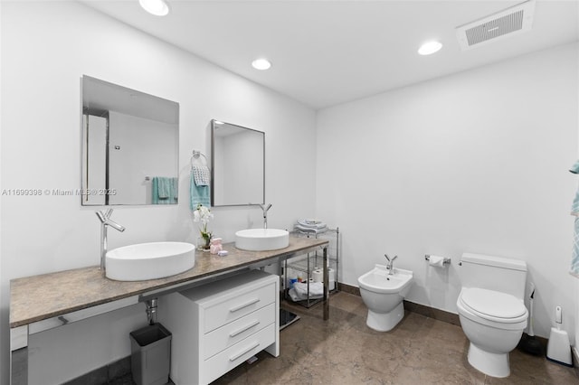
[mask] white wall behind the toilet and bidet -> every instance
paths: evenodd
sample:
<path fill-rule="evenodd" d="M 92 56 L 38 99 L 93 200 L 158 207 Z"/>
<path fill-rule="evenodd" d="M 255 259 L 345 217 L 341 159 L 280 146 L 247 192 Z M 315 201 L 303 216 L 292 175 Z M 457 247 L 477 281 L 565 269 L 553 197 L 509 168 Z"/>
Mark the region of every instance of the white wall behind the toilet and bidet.
<path fill-rule="evenodd" d="M 574 341 L 578 86 L 567 45 L 318 111 L 316 212 L 340 227 L 343 281 L 398 255 L 408 299 L 456 313 L 461 253 L 522 258 L 536 334 L 562 305 Z"/>

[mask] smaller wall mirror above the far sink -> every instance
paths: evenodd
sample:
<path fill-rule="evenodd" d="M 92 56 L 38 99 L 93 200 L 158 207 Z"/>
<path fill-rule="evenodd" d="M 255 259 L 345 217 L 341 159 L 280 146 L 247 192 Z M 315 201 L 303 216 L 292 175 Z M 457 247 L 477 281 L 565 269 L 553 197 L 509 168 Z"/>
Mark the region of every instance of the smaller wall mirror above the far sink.
<path fill-rule="evenodd" d="M 211 204 L 265 202 L 265 133 L 211 121 Z"/>

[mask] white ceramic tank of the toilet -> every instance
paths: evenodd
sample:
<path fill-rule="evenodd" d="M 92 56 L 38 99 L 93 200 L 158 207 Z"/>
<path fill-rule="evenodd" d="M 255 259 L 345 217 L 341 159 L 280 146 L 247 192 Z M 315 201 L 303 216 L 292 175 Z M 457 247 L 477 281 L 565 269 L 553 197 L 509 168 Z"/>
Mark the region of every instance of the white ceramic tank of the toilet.
<path fill-rule="evenodd" d="M 463 287 L 496 290 L 520 299 L 525 296 L 527 262 L 524 260 L 464 253 L 459 266 Z"/>

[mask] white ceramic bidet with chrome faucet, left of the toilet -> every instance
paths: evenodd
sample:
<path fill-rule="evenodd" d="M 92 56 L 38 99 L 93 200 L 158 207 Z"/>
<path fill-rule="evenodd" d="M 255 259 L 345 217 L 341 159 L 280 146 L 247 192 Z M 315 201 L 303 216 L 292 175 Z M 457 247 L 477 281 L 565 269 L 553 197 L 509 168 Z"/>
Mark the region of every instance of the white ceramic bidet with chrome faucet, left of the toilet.
<path fill-rule="evenodd" d="M 384 265 L 375 268 L 358 278 L 360 295 L 368 307 L 365 324 L 378 332 L 388 332 L 404 316 L 404 296 L 413 284 L 413 272 L 394 268 L 389 275 Z"/>

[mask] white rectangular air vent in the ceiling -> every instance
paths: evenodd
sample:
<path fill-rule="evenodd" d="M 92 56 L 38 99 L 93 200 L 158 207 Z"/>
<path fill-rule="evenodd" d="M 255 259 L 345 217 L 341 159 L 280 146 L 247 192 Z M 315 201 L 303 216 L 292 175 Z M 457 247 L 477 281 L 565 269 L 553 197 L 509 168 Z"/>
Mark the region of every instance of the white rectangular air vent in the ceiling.
<path fill-rule="evenodd" d="M 533 24 L 535 0 L 512 6 L 456 28 L 462 50 L 470 50 L 506 36 L 529 31 Z"/>

